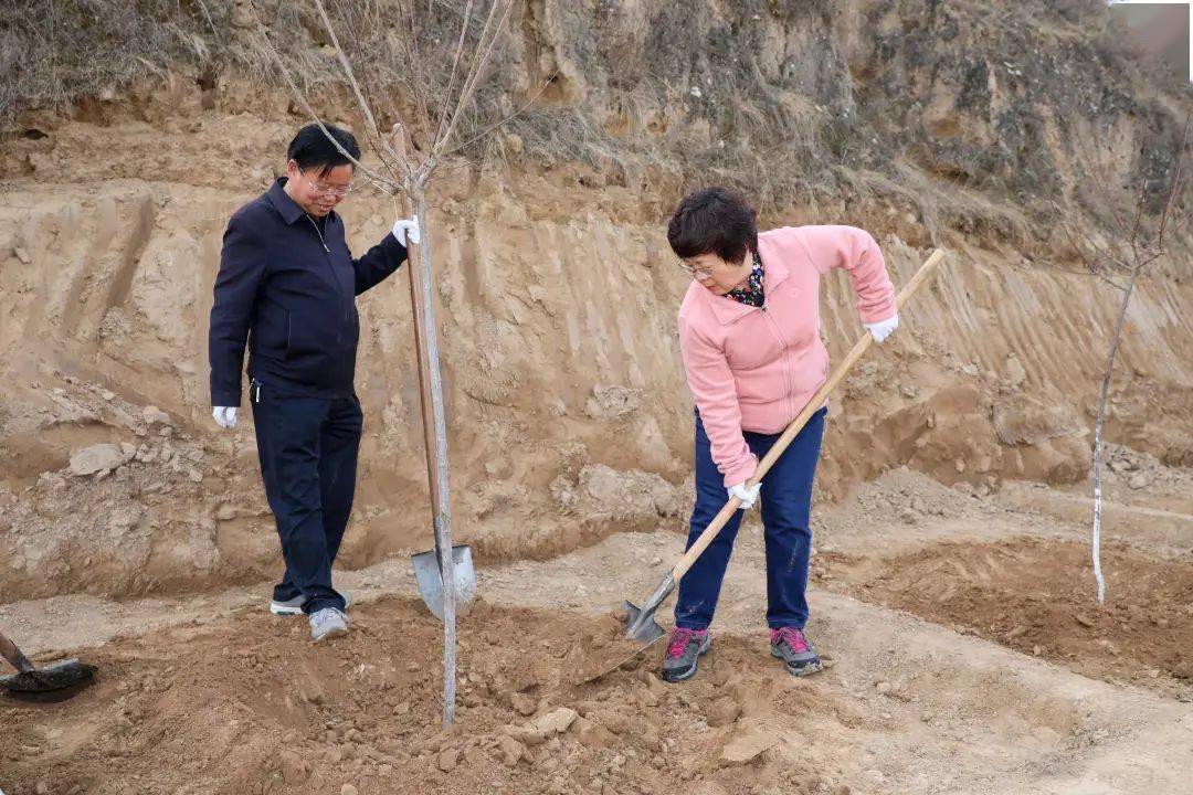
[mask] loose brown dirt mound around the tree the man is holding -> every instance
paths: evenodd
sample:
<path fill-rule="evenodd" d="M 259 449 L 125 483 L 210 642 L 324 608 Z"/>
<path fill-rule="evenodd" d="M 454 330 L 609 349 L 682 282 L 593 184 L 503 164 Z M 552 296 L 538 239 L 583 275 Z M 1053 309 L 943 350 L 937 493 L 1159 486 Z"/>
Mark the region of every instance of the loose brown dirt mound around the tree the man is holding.
<path fill-rule="evenodd" d="M 116 642 L 85 654 L 103 681 L 74 701 L 0 702 L 6 791 L 837 791 L 790 751 L 809 726 L 792 716 L 837 708 L 744 642 L 693 687 L 644 666 L 576 688 L 562 639 L 577 626 L 478 604 L 451 732 L 440 627 L 416 602 L 365 605 L 317 647 L 304 621 L 258 614 Z"/>

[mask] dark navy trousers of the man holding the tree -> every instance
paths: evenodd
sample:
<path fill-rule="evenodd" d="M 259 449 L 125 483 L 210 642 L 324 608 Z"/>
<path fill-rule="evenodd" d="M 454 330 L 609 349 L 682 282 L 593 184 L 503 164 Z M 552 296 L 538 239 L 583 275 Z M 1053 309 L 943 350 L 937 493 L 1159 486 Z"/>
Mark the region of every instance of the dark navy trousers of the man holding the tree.
<path fill-rule="evenodd" d="M 249 390 L 265 496 L 278 524 L 286 573 L 274 601 L 302 594 L 308 614 L 345 608 L 332 564 L 352 514 L 364 415 L 356 396 L 310 398 L 254 381 Z"/>

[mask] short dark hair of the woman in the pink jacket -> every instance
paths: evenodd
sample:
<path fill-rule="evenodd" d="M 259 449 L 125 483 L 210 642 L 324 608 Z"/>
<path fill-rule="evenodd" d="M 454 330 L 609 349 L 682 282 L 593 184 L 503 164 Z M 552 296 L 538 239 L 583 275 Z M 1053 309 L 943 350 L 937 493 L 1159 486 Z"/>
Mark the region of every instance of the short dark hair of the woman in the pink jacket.
<path fill-rule="evenodd" d="M 667 242 L 681 259 L 716 254 L 738 262 L 758 250 L 758 213 L 744 197 L 723 187 L 688 193 L 667 224 Z"/>

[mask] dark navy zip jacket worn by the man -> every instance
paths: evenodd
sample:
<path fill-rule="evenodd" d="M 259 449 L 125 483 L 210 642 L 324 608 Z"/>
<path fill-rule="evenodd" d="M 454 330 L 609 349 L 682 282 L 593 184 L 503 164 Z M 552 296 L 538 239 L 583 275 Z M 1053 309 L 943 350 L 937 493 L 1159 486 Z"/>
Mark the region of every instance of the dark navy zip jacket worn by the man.
<path fill-rule="evenodd" d="M 303 397 L 352 396 L 356 297 L 406 260 L 392 234 L 353 259 L 344 221 L 332 211 L 320 229 L 285 181 L 237 210 L 224 232 L 208 337 L 211 405 L 240 405 L 246 341 L 248 374 L 262 384 Z"/>

